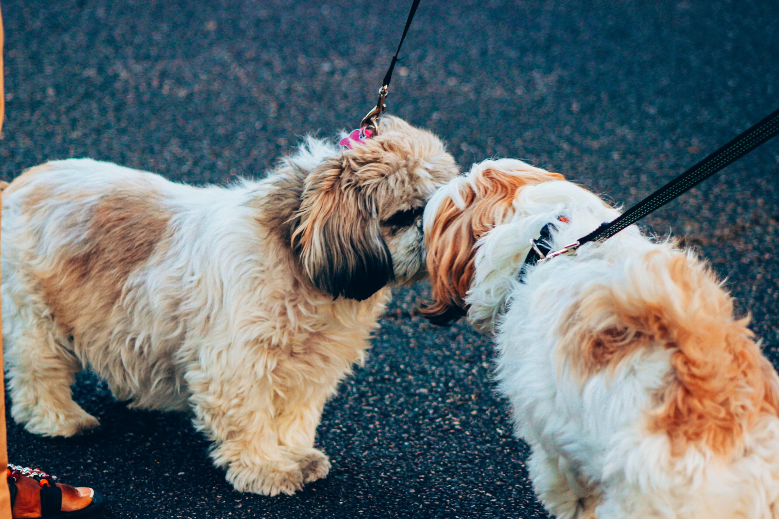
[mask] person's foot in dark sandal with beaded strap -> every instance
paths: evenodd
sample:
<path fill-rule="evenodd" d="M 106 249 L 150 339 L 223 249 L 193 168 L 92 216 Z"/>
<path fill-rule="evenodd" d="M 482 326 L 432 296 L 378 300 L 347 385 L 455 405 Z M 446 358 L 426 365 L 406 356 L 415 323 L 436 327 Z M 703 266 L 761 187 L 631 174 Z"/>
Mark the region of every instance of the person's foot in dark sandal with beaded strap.
<path fill-rule="evenodd" d="M 76 488 L 58 483 L 55 476 L 43 472 L 40 468 L 9 464 L 5 475 L 11 493 L 14 519 L 86 519 L 95 517 L 104 510 L 105 500 L 100 493 L 86 487 Z M 40 495 L 37 501 L 34 499 L 35 490 L 38 490 Z M 25 503 L 16 503 L 17 496 L 24 496 Z M 85 502 L 86 506 L 75 509 Z"/>

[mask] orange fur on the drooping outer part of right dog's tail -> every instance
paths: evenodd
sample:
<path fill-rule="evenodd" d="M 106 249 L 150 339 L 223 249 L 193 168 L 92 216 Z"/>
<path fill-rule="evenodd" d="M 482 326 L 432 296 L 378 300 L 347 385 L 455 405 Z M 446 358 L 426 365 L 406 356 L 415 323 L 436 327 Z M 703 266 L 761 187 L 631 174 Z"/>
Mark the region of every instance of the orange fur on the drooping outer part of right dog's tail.
<path fill-rule="evenodd" d="M 675 380 L 652 426 L 668 433 L 675 454 L 700 442 L 728 455 L 760 416 L 777 416 L 779 379 L 753 341 L 749 317 L 735 319 L 731 296 L 707 268 L 682 254 L 667 268 L 682 300 L 663 306 L 683 310 L 665 317 L 648 308 L 654 334 L 678 349 L 671 357 Z"/>

